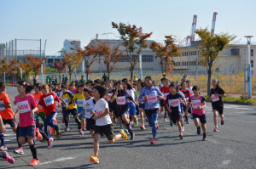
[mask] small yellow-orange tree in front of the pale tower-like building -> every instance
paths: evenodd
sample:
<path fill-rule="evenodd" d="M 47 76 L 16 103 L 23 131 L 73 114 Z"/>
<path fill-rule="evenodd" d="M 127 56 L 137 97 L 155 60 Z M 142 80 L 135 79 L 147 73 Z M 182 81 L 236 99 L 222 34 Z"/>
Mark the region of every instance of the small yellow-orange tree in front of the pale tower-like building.
<path fill-rule="evenodd" d="M 62 57 L 67 65 L 67 73 L 69 74 L 69 82 L 71 82 L 71 75 L 79 67 L 79 63 L 82 61 L 82 55 L 78 52 L 73 51 L 73 53 L 68 53 L 62 51 Z"/>

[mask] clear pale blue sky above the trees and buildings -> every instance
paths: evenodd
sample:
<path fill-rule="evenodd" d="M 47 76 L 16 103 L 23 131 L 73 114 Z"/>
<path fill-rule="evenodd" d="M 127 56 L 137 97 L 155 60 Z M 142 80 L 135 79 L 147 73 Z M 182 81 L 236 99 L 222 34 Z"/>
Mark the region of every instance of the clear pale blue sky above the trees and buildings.
<path fill-rule="evenodd" d="M 255 0 L 0 0 L 0 43 L 12 39 L 47 39 L 46 54 L 55 54 L 65 39 L 79 39 L 82 46 L 99 38 L 117 39 L 111 22 L 124 22 L 153 31 L 152 40 L 166 35 L 188 36 L 193 15 L 196 28 L 212 26 L 218 12 L 215 33 L 230 32 L 245 42 L 252 35 L 256 42 Z M 114 33 L 102 35 L 104 33 Z M 107 37 L 108 36 L 108 37 Z M 38 43 L 18 42 L 18 49 L 35 49 Z"/>

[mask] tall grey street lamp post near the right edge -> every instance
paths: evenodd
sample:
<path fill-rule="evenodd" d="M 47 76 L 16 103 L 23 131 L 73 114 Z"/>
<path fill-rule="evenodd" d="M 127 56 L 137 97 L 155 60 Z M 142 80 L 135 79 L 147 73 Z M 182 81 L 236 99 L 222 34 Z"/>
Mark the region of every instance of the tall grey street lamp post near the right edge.
<path fill-rule="evenodd" d="M 252 98 L 252 87 L 251 87 L 251 37 L 253 36 L 245 36 L 247 37 L 247 48 L 248 48 L 248 63 L 247 63 L 247 92 L 248 98 Z"/>

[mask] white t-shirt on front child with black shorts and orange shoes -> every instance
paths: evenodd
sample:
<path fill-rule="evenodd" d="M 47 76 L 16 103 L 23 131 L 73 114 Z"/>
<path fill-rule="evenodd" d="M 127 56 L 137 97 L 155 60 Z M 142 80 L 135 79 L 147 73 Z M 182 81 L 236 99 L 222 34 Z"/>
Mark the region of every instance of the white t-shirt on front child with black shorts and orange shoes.
<path fill-rule="evenodd" d="M 108 102 L 105 99 L 99 99 L 95 104 L 96 116 L 102 115 L 106 108 L 108 108 Z M 109 114 L 96 120 L 96 126 L 106 126 L 108 124 L 112 124 Z"/>

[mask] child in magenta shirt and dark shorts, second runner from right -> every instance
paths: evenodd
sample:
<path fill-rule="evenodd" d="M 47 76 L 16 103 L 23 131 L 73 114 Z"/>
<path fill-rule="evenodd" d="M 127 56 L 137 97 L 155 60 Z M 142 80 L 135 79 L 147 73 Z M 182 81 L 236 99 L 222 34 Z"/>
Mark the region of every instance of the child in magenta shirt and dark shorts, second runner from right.
<path fill-rule="evenodd" d="M 194 96 L 189 97 L 189 104 L 187 105 L 186 109 L 186 115 L 188 115 L 188 110 L 190 105 L 192 105 L 192 115 L 193 115 L 193 121 L 195 123 L 195 127 L 197 127 L 197 134 L 201 134 L 201 127 L 203 130 L 203 141 L 207 140 L 207 116 L 205 113 L 205 108 L 207 107 L 206 99 L 200 95 L 200 88 L 198 86 L 193 87 L 193 93 Z M 199 126 L 199 121 L 201 122 L 201 127 Z"/>

